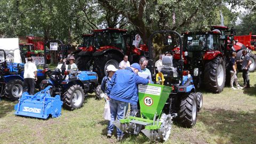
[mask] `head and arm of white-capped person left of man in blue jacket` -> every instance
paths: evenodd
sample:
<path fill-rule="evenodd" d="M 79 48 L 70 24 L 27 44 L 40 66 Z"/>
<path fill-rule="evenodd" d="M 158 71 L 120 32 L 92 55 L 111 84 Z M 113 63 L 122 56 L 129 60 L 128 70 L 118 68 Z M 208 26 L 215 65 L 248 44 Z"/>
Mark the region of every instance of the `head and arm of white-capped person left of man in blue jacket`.
<path fill-rule="evenodd" d="M 108 86 L 108 81 L 111 80 L 111 77 L 115 74 L 115 72 L 117 71 L 118 69 L 113 66 L 113 65 L 108 65 L 107 66 L 107 72 L 108 72 L 108 75 L 106 75 L 105 77 L 103 77 L 102 79 L 102 82 L 101 82 L 101 90 L 102 92 L 105 93 L 105 91 L 107 90 Z"/>

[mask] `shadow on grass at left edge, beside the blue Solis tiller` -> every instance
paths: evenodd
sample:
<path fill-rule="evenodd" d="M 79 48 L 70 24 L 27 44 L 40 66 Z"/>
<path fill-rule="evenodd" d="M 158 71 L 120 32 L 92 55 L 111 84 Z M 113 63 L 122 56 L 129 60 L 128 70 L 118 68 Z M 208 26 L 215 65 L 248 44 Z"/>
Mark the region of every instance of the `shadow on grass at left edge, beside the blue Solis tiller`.
<path fill-rule="evenodd" d="M 18 101 L 10 101 L 6 98 L 1 98 L 0 101 L 0 118 L 5 117 L 8 113 L 14 110 L 14 105 L 16 105 Z"/>

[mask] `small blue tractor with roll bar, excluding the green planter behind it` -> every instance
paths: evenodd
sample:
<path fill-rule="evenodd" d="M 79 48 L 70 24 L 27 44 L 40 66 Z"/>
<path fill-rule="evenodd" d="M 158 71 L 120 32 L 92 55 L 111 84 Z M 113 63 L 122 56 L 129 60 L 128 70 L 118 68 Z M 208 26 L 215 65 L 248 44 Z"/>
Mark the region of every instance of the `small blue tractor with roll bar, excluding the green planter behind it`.
<path fill-rule="evenodd" d="M 196 92 L 189 71 L 183 69 L 186 52 L 183 52 L 181 36 L 176 31 L 155 31 L 150 35 L 148 46 L 151 74 L 155 73 L 153 46 L 157 45 L 162 47 L 166 56 L 163 57 L 161 70 L 156 74 L 156 83 L 172 87 L 163 113 L 177 114 L 174 118 L 177 123 L 184 127 L 193 127 L 196 124 L 197 112 L 202 108 L 203 97 L 202 93 Z M 173 59 L 172 53 L 175 50 L 180 53 L 179 59 Z"/>

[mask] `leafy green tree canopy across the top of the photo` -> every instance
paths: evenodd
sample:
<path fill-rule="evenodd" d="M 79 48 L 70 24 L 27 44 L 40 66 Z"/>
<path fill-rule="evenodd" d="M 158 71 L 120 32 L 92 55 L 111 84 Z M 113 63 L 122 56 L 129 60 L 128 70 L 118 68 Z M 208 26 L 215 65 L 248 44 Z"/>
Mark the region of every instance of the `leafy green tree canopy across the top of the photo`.
<path fill-rule="evenodd" d="M 241 7 L 247 12 L 237 12 Z M 82 34 L 109 27 L 136 30 L 146 43 L 155 30 L 183 32 L 221 25 L 220 12 L 225 25 L 236 25 L 238 34 L 255 33 L 253 0 L 2 0 L 0 37 L 35 35 L 81 43 Z"/>

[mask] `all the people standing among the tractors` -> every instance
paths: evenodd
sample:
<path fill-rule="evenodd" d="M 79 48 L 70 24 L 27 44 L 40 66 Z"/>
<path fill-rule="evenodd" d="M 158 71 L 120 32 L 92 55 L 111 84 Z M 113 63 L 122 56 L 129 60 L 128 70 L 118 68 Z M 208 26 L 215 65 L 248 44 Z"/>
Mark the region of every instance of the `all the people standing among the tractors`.
<path fill-rule="evenodd" d="M 249 70 L 251 65 L 250 56 L 246 50 L 242 52 L 244 59 L 236 61 L 236 52 L 232 53 L 232 57 L 229 62 L 230 69 L 230 86 L 231 89 L 243 89 L 250 88 Z M 169 53 L 166 55 L 170 55 Z M 156 61 L 155 67 L 157 71 L 161 71 L 162 58 L 165 54 L 159 55 L 159 60 Z M 68 61 L 67 61 L 68 60 Z M 77 68 L 75 64 L 75 58 L 71 55 L 64 60 L 61 60 L 57 68 L 70 70 Z M 28 58 L 28 62 L 25 64 L 25 85 L 28 87 L 29 94 L 34 94 L 35 81 L 37 81 L 37 68 L 35 63 L 32 62 L 31 57 Z M 238 84 L 236 63 L 242 63 L 243 71 L 243 87 Z M 123 118 L 124 112 L 126 114 L 128 105 L 130 103 L 131 115 L 135 116 L 138 113 L 138 85 L 153 83 L 151 79 L 150 70 L 147 68 L 148 60 L 145 57 L 141 57 L 139 63 L 132 63 L 128 61 L 128 56 L 124 55 L 123 61 L 119 63 L 119 69 L 113 65 L 107 66 L 107 75 L 103 77 L 101 82 L 101 90 L 105 93 L 105 99 L 110 103 L 111 121 L 108 124 L 107 137 L 111 137 L 114 130 L 113 122 Z M 233 83 L 235 82 L 236 87 Z M 124 111 L 126 110 L 126 111 Z M 122 140 L 124 133 L 117 128 L 117 140 Z"/>

